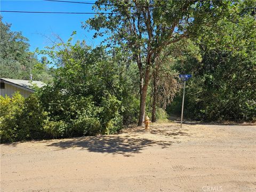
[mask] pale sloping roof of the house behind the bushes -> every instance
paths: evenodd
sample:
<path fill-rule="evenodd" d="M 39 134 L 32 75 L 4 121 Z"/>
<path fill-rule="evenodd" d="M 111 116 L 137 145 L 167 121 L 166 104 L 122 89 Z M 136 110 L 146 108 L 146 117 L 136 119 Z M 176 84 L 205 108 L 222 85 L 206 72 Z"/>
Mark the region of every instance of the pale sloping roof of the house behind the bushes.
<path fill-rule="evenodd" d="M 25 89 L 31 92 L 34 92 L 33 86 L 36 85 L 38 87 L 42 87 L 45 83 L 41 81 L 28 81 L 28 80 L 21 80 L 21 79 L 10 79 L 10 78 L 0 78 L 1 82 L 17 86 L 21 89 Z"/>

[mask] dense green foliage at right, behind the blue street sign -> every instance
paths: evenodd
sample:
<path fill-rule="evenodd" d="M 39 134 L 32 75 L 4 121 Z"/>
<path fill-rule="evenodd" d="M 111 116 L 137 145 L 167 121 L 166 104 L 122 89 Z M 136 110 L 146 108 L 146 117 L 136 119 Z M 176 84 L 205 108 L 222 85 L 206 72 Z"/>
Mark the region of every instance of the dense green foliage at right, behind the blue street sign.
<path fill-rule="evenodd" d="M 205 27 L 193 39 L 199 49 L 177 60 L 175 69 L 192 73 L 185 97 L 185 116 L 207 121 L 255 121 L 256 117 L 256 22 L 239 4 L 231 18 L 223 17 L 214 28 Z M 179 63 L 182 63 L 180 65 Z M 170 108 L 180 114 L 181 95 Z M 177 108 L 177 106 L 179 106 Z"/>

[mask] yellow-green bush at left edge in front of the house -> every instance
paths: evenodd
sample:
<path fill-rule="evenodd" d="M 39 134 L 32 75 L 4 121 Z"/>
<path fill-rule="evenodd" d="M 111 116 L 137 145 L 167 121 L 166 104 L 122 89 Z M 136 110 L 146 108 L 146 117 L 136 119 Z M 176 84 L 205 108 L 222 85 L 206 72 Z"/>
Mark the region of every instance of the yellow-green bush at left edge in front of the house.
<path fill-rule="evenodd" d="M 47 113 L 34 94 L 26 99 L 18 92 L 12 98 L 1 96 L 0 105 L 1 142 L 46 138 Z"/>

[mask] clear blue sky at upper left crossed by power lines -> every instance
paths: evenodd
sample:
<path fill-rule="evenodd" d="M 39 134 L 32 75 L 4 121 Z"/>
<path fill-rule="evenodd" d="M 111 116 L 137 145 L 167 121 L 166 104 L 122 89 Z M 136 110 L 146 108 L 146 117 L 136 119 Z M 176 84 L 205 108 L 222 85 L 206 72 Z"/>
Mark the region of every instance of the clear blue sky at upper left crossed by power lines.
<path fill-rule="evenodd" d="M 70 1 L 70 0 L 69 0 Z M 82 1 L 81 1 L 82 2 Z M 83 1 L 94 3 L 94 1 Z M 93 12 L 92 5 L 46 2 L 46 1 L 2 1 L 1 10 L 10 11 L 50 11 L 50 12 Z M 21 31 L 29 39 L 30 51 L 36 47 L 44 49 L 51 42 L 45 36 L 54 39 L 59 35 L 64 41 L 77 31 L 76 39 L 85 39 L 87 45 L 97 46 L 100 39 L 93 39 L 94 31 L 81 28 L 81 22 L 93 17 L 93 14 L 43 14 L 43 13 L 6 13 L 1 12 L 3 21 L 12 23 L 12 31 Z M 102 40 L 102 39 L 101 39 Z"/>

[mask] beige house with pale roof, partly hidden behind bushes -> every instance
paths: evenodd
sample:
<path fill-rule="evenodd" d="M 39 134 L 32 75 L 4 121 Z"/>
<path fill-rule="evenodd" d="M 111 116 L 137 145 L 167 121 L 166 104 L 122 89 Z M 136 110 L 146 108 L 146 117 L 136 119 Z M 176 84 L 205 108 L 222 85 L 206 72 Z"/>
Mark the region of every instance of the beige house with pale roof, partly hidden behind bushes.
<path fill-rule="evenodd" d="M 21 79 L 9 79 L 9 78 L 0 78 L 0 93 L 2 96 L 8 95 L 12 97 L 12 94 L 19 91 L 23 97 L 27 98 L 31 93 L 34 93 L 35 90 L 33 87 L 36 85 L 42 87 L 45 84 L 41 81 L 29 81 Z"/>

